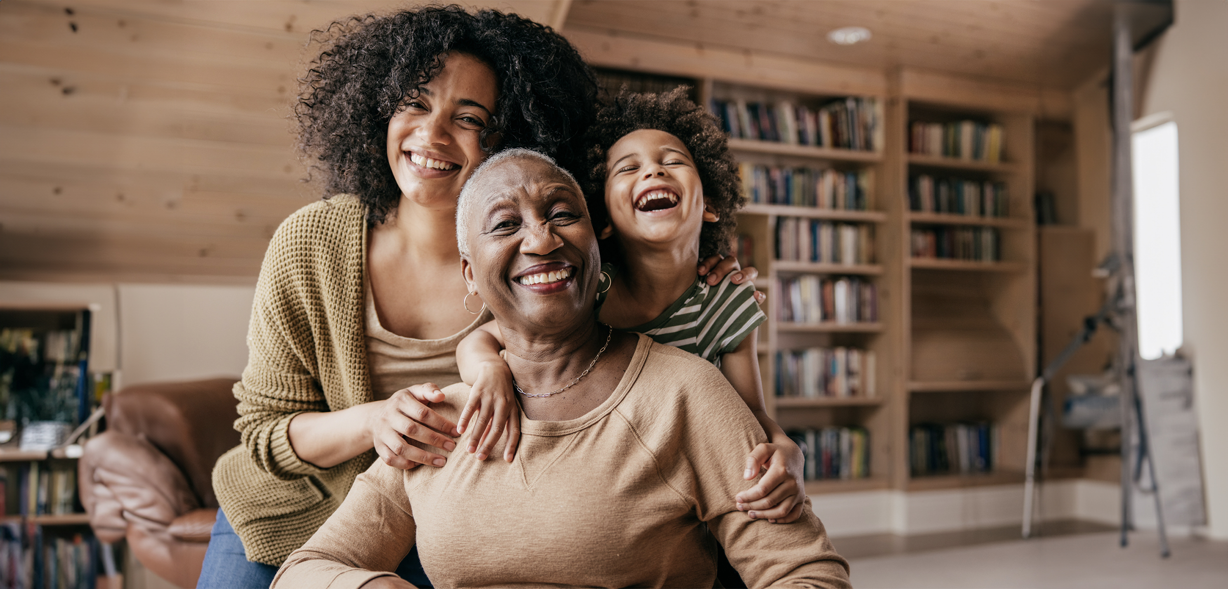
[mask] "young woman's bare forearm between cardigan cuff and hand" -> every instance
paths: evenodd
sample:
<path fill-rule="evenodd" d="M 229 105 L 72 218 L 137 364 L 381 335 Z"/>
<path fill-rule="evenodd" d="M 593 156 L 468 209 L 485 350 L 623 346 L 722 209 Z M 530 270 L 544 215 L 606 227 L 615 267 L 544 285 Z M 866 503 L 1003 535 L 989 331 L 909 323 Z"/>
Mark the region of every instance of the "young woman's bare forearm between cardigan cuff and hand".
<path fill-rule="evenodd" d="M 295 454 L 322 469 L 336 466 L 375 447 L 371 416 L 382 401 L 340 411 L 298 414 L 286 434 Z"/>

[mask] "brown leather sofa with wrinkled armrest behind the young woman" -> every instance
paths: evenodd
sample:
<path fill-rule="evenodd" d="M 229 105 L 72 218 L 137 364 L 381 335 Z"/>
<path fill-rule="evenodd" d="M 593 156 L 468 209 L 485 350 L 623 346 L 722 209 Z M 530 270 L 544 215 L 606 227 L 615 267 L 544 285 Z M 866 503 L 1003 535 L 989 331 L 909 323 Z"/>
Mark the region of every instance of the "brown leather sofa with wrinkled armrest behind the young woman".
<path fill-rule="evenodd" d="M 196 587 L 217 515 L 214 463 L 239 443 L 236 380 L 107 395 L 107 429 L 85 444 L 79 463 L 81 504 L 98 539 L 126 539 L 141 564 L 183 588 Z"/>

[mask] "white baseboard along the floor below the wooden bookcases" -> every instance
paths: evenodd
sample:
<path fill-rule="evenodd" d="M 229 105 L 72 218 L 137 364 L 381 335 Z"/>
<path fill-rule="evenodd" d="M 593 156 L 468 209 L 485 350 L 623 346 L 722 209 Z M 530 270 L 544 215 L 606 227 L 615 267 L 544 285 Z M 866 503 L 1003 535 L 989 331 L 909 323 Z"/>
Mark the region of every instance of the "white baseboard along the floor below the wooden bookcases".
<path fill-rule="evenodd" d="M 1109 525 L 1120 522 L 1117 485 L 1074 479 L 1040 485 L 1039 492 L 1038 522 L 1082 519 Z M 1136 493 L 1133 501 L 1136 526 L 1154 529 L 1151 498 Z M 810 502 L 831 537 L 935 534 L 1023 523 L 1023 485 L 812 495 Z M 1190 530 L 1170 529 L 1169 533 L 1179 536 Z"/>

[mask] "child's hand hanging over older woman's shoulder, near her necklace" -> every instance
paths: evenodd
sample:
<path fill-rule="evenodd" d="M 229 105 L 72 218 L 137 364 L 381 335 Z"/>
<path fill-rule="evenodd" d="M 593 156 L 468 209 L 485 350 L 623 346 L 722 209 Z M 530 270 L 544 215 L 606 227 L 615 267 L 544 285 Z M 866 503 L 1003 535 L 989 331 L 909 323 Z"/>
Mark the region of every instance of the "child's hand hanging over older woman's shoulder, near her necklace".
<path fill-rule="evenodd" d="M 457 420 L 457 429 L 464 433 L 470 428 L 470 421 L 474 434 L 469 436 L 465 445 L 469 454 L 476 452 L 478 460 L 485 460 L 507 429 L 503 460 L 511 463 L 521 442 L 521 406 L 512 388 L 512 371 L 505 362 L 481 364 L 478 379 L 469 389 L 469 401 Z"/>

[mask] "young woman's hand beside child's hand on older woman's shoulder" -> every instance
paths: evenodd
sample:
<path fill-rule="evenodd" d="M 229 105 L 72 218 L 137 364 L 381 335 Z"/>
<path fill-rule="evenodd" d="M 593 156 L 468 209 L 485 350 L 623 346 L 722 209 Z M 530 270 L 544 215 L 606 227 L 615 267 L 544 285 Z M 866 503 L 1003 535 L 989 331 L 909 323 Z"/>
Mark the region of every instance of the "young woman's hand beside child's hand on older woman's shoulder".
<path fill-rule="evenodd" d="M 367 417 L 367 431 L 375 442 L 376 453 L 384 464 L 397 469 L 413 469 L 419 464 L 443 466 L 447 458 L 414 444 L 424 444 L 452 452 L 457 444 L 452 439 L 460 434 L 456 423 L 427 406 L 443 401 L 443 391 L 435 383 L 415 384 L 393 393 Z"/>

